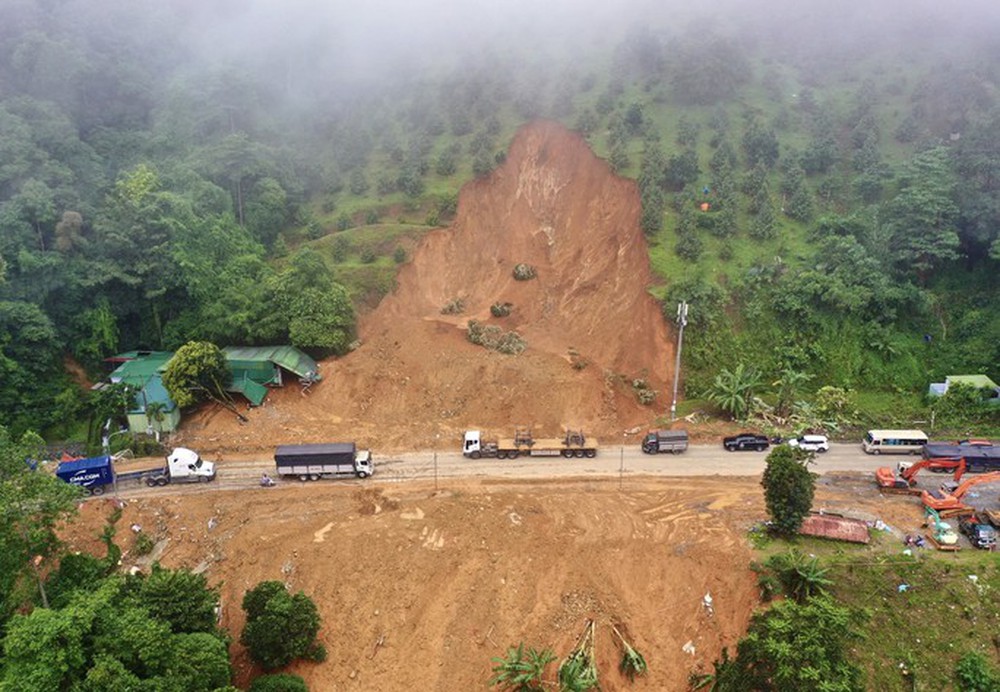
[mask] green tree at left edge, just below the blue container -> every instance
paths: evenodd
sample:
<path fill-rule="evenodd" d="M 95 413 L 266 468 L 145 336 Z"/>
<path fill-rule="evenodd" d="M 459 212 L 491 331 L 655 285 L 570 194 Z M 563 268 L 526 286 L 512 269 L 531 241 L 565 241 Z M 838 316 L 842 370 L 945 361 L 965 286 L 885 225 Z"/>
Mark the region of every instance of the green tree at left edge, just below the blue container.
<path fill-rule="evenodd" d="M 42 458 L 44 441 L 32 432 L 14 439 L 0 426 L 0 624 L 29 600 L 33 579 L 44 607 L 41 564 L 59 546 L 56 527 L 76 511 L 80 489 L 29 463 Z"/>

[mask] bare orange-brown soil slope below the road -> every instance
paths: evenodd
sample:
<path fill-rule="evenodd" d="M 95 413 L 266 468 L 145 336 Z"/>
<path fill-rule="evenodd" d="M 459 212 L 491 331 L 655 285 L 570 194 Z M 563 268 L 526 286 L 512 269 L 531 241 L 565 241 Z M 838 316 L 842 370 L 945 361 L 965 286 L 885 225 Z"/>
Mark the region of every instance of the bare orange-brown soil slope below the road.
<path fill-rule="evenodd" d="M 824 483 L 818 504 L 901 523 L 917 515 L 904 498 L 867 495 Z M 71 547 L 101 552 L 114 502 L 82 505 Z M 243 593 L 259 581 L 311 596 L 329 659 L 291 669 L 310 689 L 486 689 L 492 656 L 522 641 L 564 656 L 593 618 L 602 689 L 683 690 L 690 671 L 710 670 L 735 644 L 758 604 L 747 536 L 763 516 L 757 478 L 634 478 L 621 490 L 613 480 L 452 479 L 437 492 L 328 482 L 132 499 L 118 542 L 124 568 L 155 558 L 221 585 L 234 639 Z M 130 550 L 133 524 L 157 540 L 152 556 Z M 628 628 L 649 663 L 632 685 L 617 670 L 611 623 Z M 232 652 L 245 685 L 260 671 L 238 644 Z"/>

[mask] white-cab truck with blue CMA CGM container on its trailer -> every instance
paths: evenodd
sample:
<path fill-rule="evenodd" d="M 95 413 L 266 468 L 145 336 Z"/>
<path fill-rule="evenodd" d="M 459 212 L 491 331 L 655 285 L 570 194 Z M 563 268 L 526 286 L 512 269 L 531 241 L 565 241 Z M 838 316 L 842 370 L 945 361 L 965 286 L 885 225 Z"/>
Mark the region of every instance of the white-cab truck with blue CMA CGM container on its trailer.
<path fill-rule="evenodd" d="M 109 454 L 62 461 L 56 476 L 84 489 L 88 495 L 103 495 L 116 483 L 142 481 L 153 487 L 168 483 L 206 483 L 215 478 L 215 464 L 203 460 L 198 453 L 178 447 L 166 458 L 163 466 L 119 471 Z"/>

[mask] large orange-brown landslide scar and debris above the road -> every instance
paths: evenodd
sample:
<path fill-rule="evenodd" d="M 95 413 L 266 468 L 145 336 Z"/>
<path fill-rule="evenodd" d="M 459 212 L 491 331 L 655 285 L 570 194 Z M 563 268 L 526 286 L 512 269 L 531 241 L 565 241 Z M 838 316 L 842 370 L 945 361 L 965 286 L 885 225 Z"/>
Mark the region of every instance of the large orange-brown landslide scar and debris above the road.
<path fill-rule="evenodd" d="M 672 382 L 639 215 L 635 184 L 582 137 L 532 123 L 499 168 L 463 188 L 455 223 L 425 236 L 396 291 L 362 318 L 360 348 L 323 362 L 307 396 L 275 390 L 242 428 L 228 413 L 191 417 L 178 443 L 253 451 L 345 438 L 427 449 L 453 447 L 467 428 L 514 425 L 621 440 L 664 411 Z M 516 280 L 522 263 L 537 276 Z M 443 314 L 450 302 L 461 312 Z M 510 315 L 493 316 L 503 303 Z M 527 348 L 513 356 L 470 343 L 472 319 L 516 331 Z M 653 407 L 638 401 L 639 378 L 658 392 Z"/>

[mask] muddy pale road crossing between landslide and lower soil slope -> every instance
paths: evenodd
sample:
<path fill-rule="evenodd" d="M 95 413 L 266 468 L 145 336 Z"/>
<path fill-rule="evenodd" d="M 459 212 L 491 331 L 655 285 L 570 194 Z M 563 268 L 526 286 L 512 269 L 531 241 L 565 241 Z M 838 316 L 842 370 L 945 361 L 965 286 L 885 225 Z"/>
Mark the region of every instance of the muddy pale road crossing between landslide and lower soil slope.
<path fill-rule="evenodd" d="M 618 476 L 757 476 L 764 470 L 766 452 L 726 452 L 721 445 L 692 445 L 683 454 L 643 454 L 637 445 L 602 447 L 593 459 L 562 457 L 518 457 L 517 459 L 466 459 L 459 452 L 411 452 L 380 456 L 375 450 L 375 476 L 369 481 L 352 478 L 351 483 L 393 483 L 447 478 L 569 478 Z M 865 454 L 860 444 L 831 444 L 830 451 L 817 454 L 812 468 L 823 474 L 831 471 L 859 471 L 874 474 L 879 466 L 894 465 L 914 457 L 882 457 Z M 145 488 L 137 483 L 119 488 L 123 496 L 174 492 L 204 493 L 254 487 L 261 473 L 274 474 L 274 460 L 226 461 L 217 465 L 215 482 Z M 330 482 L 330 481 L 327 481 Z M 278 480 L 279 485 L 298 480 Z"/>

